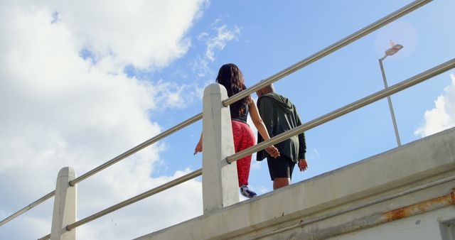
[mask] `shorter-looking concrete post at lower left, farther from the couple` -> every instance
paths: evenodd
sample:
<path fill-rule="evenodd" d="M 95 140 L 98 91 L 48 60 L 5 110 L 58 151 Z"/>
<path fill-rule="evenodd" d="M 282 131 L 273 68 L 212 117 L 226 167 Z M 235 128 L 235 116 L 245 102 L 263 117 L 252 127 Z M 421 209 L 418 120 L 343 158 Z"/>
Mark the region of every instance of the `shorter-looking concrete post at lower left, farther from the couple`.
<path fill-rule="evenodd" d="M 68 183 L 75 178 L 73 168 L 65 167 L 58 172 L 50 240 L 76 239 L 76 229 L 66 229 L 68 224 L 76 222 L 76 186 L 71 187 Z"/>

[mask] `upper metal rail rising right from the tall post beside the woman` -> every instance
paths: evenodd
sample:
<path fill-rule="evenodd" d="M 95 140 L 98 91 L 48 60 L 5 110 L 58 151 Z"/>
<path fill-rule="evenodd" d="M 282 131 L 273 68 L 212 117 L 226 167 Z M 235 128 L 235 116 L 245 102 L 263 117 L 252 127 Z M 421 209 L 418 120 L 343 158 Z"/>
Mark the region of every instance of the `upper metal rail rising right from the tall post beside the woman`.
<path fill-rule="evenodd" d="M 269 77 L 261 82 L 258 82 L 257 84 L 254 84 L 252 87 L 243 90 L 242 92 L 239 92 L 232 97 L 225 99 L 223 101 L 223 105 L 225 107 L 228 107 L 230 104 L 233 104 L 240 99 L 247 97 L 248 95 L 252 94 L 253 92 L 256 92 L 259 89 L 262 89 L 263 87 L 272 84 L 273 82 L 276 82 L 277 80 L 282 79 L 283 77 L 286 77 L 287 75 L 290 75 L 292 72 L 295 72 L 296 70 L 301 69 L 302 67 L 305 67 L 307 65 L 310 65 L 313 62 L 316 62 L 317 60 L 325 57 L 326 55 L 335 52 L 336 50 L 343 48 L 344 46 L 348 45 L 349 43 L 353 43 L 353 41 L 358 40 L 359 38 L 362 38 L 363 36 L 368 35 L 369 33 L 375 31 L 378 28 L 381 28 L 382 26 L 385 26 L 387 23 L 390 23 L 392 21 L 395 21 L 397 18 L 400 18 L 402 16 L 405 16 L 407 13 L 410 13 L 416 9 L 418 9 L 421 6 L 424 6 L 425 4 L 428 4 L 432 0 L 420 0 L 420 1 L 414 1 L 411 4 L 407 4 L 406 6 L 402 7 L 401 9 L 398 9 L 397 11 L 394 11 L 393 13 L 390 13 L 389 15 L 380 18 L 380 20 L 375 21 L 374 23 L 371 23 L 370 25 L 366 26 L 365 28 L 360 29 L 359 31 L 356 31 L 355 33 L 351 34 L 350 36 L 347 36 L 346 38 L 343 38 L 339 40 L 336 43 L 333 43 L 332 45 L 329 45 L 327 48 L 324 48 L 323 50 L 320 50 L 317 53 L 314 53 L 313 55 L 309 56 L 308 58 L 305 58 L 304 60 L 301 60 L 300 62 L 297 62 L 296 64 L 292 65 L 291 67 L 288 67 L 285 70 L 282 70 L 281 72 L 278 72 L 277 74 L 273 75 L 272 77 Z"/>

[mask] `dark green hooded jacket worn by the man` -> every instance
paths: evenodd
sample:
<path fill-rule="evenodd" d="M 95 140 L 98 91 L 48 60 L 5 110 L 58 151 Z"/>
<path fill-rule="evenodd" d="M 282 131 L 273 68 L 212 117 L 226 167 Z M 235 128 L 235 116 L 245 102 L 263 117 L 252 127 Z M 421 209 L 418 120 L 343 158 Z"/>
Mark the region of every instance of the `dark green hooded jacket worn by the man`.
<path fill-rule="evenodd" d="M 287 97 L 283 97 L 280 94 L 268 93 L 262 95 L 257 99 L 257 109 L 267 127 L 270 138 L 301 125 L 300 117 L 294 104 Z M 262 141 L 264 139 L 257 133 L 257 143 Z M 304 133 L 293 136 L 274 146 L 278 148 L 281 156 L 287 156 L 294 163 L 298 163 L 299 159 L 305 159 L 306 143 Z M 264 150 L 257 152 L 257 160 L 259 161 L 267 156 L 269 154 Z"/>

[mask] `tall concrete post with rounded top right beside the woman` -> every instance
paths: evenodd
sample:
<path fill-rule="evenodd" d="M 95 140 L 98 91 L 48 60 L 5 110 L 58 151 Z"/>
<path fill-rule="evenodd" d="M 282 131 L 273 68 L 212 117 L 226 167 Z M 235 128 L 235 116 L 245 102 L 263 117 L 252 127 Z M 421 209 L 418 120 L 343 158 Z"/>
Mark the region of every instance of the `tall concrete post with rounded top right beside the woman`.
<path fill-rule="evenodd" d="M 239 202 L 237 165 L 226 157 L 235 153 L 225 87 L 205 87 L 203 98 L 203 207 L 204 214 Z"/>

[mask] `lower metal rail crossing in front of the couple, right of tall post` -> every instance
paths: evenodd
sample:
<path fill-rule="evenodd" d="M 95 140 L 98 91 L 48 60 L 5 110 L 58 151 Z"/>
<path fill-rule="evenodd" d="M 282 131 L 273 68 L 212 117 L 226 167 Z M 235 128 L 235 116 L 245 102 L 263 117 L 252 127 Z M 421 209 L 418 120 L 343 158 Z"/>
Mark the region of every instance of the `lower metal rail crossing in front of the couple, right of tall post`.
<path fill-rule="evenodd" d="M 226 158 L 226 160 L 228 161 L 228 163 L 233 163 L 240 158 L 244 158 L 245 156 L 249 156 L 252 153 L 261 151 L 273 144 L 280 143 L 288 138 L 291 138 L 292 136 L 296 136 L 297 134 L 303 133 L 306 130 L 313 129 L 316 126 L 326 123 L 327 121 L 331 121 L 333 119 L 338 118 L 339 116 L 348 114 L 351 111 L 360 109 L 360 107 L 364 107 L 365 105 L 371 104 L 371 103 L 376 102 L 380 99 L 383 99 L 387 96 L 400 92 L 403 89 L 412 87 L 415 84 L 428 80 L 429 78 L 439 75 L 442 72 L 446 72 L 447 70 L 451 70 L 454 67 L 455 67 L 455 58 L 452 58 L 451 60 L 444 62 L 441 65 L 438 65 L 425 72 L 415 75 L 414 77 L 411 77 L 403 82 L 397 83 L 391 87 L 387 87 L 386 89 L 383 89 L 379 92 L 375 92 L 374 94 L 371 94 L 368 97 L 364 97 L 363 99 L 360 99 L 356 102 L 348 104 L 345 107 L 341 107 L 339 109 L 336 109 L 335 111 L 331 111 L 330 113 L 320 116 L 319 118 L 314 119 L 312 121 L 309 121 L 306 124 L 302 124 L 292 130 L 289 130 L 287 132 L 274 136 L 273 138 L 270 138 L 267 141 L 259 143 L 255 146 L 247 148 L 243 151 L 234 153 L 231 156 L 228 156 L 228 158 Z"/>

